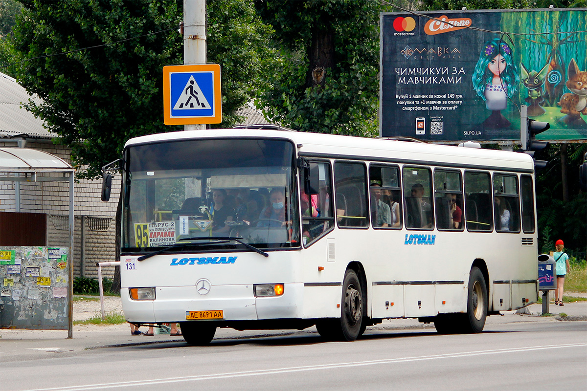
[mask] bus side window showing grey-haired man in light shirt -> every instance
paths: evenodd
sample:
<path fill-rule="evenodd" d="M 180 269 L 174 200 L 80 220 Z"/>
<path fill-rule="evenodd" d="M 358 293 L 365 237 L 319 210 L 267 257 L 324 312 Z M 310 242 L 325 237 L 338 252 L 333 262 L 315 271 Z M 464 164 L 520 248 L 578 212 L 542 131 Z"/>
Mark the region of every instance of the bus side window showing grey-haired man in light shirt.
<path fill-rule="evenodd" d="M 401 228 L 399 168 L 369 166 L 371 220 L 375 228 Z"/>

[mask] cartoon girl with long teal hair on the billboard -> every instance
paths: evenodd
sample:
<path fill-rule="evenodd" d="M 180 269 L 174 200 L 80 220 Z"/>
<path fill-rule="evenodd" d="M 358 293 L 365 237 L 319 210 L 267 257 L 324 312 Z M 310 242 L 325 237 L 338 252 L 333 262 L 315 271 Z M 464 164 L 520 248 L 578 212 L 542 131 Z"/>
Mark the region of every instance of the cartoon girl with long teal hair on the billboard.
<path fill-rule="evenodd" d="M 473 72 L 473 88 L 485 101 L 491 115 L 483 122 L 485 129 L 510 127 L 501 111 L 508 106 L 508 98 L 516 91 L 519 83 L 518 67 L 510 46 L 500 38 L 485 42 Z"/>

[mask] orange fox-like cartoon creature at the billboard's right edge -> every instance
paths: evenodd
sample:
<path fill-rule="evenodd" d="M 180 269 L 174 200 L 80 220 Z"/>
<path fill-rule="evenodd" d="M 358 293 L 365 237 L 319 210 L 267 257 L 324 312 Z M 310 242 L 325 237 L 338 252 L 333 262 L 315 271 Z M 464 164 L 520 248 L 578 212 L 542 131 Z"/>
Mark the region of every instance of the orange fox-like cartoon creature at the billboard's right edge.
<path fill-rule="evenodd" d="M 561 106 L 561 113 L 567 114 L 562 121 L 569 125 L 585 125 L 581 114 L 587 115 L 587 72 L 581 72 L 575 59 L 572 59 L 566 76 L 566 87 L 571 93 L 563 94 L 557 103 Z"/>

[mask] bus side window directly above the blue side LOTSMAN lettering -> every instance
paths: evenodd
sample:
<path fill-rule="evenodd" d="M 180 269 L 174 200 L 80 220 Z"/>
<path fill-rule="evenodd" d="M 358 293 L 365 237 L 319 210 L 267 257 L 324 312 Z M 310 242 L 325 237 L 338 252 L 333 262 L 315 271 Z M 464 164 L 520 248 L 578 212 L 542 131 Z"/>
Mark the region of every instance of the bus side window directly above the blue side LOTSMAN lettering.
<path fill-rule="evenodd" d="M 432 229 L 432 175 L 427 168 L 403 168 L 404 219 L 407 228 Z"/>

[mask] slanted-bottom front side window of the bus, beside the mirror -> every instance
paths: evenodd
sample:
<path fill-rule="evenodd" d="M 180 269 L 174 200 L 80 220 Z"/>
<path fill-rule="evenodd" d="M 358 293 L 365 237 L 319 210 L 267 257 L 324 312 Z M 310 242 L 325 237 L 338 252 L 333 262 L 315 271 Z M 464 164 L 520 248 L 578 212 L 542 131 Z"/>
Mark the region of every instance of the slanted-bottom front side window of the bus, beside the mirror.
<path fill-rule="evenodd" d="M 313 168 L 318 167 L 318 170 Z M 325 162 L 310 162 L 311 172 L 318 172 L 319 192 L 308 195 L 304 192 L 305 177 L 301 176 L 301 212 L 302 212 L 302 242 L 305 246 L 315 242 L 334 226 L 332 208 L 332 182 L 330 180 L 330 164 Z"/>

